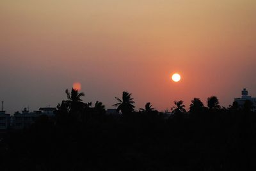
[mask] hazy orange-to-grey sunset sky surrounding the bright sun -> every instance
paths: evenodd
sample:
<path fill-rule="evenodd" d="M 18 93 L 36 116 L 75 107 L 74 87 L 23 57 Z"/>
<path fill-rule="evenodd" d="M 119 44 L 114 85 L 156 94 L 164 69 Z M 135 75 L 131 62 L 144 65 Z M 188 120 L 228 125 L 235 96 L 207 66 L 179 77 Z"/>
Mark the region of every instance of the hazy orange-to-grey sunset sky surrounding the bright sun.
<path fill-rule="evenodd" d="M 136 108 L 227 107 L 244 87 L 256 96 L 255 16 L 255 0 L 1 0 L 0 100 L 11 114 L 56 107 L 80 82 L 106 108 L 122 91 Z"/>

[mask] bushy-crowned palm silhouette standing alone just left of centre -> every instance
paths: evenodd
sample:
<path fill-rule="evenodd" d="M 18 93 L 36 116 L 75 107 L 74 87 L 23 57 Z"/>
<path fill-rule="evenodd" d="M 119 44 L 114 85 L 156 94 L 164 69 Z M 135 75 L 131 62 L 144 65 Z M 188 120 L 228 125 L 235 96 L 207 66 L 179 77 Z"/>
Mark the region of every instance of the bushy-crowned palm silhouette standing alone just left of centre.
<path fill-rule="evenodd" d="M 122 100 L 120 98 L 116 98 L 118 103 L 113 105 L 114 107 L 117 107 L 117 111 L 119 112 L 121 110 L 122 114 L 128 114 L 130 112 L 134 111 L 134 104 L 135 102 L 132 101 L 133 98 L 131 98 L 131 93 L 128 93 L 127 91 L 123 92 Z"/>

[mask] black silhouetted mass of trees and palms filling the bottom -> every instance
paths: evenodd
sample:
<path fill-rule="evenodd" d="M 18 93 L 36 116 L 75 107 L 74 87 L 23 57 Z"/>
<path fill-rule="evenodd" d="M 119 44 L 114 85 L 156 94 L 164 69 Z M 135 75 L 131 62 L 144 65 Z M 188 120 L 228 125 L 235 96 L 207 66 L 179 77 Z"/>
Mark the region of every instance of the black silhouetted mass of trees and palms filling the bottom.
<path fill-rule="evenodd" d="M 256 113 L 248 102 L 244 110 L 222 110 L 209 98 L 207 110 L 195 98 L 186 113 L 175 101 L 179 117 L 166 118 L 150 103 L 134 112 L 129 93 L 116 98 L 119 115 L 73 94 L 56 117 L 42 115 L 30 128 L 1 136 L 1 170 L 256 169 Z"/>

